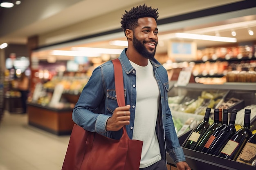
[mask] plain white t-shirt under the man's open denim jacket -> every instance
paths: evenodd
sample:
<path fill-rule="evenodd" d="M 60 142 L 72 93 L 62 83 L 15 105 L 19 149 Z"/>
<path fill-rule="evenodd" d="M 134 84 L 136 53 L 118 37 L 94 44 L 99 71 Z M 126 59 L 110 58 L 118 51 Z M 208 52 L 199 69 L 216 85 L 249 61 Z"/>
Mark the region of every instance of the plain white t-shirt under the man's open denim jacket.
<path fill-rule="evenodd" d="M 139 168 L 146 168 L 161 160 L 155 132 L 159 106 L 159 88 L 153 66 L 139 66 L 130 61 L 136 70 L 136 108 L 132 139 L 143 141 Z"/>

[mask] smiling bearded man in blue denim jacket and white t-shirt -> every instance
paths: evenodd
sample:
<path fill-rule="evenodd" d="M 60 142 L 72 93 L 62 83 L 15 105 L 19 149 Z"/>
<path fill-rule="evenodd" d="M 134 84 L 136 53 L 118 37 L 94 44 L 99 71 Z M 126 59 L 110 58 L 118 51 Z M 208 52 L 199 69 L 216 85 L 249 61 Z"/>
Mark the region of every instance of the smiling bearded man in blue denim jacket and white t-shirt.
<path fill-rule="evenodd" d="M 126 11 L 121 27 L 128 48 L 119 56 L 126 106 L 118 107 L 112 62 L 95 68 L 73 110 L 76 124 L 120 139 L 123 126 L 130 139 L 143 141 L 140 170 L 167 170 L 166 150 L 179 170 L 191 170 L 180 147 L 168 106 L 168 76 L 155 60 L 157 9 L 143 6 Z"/>

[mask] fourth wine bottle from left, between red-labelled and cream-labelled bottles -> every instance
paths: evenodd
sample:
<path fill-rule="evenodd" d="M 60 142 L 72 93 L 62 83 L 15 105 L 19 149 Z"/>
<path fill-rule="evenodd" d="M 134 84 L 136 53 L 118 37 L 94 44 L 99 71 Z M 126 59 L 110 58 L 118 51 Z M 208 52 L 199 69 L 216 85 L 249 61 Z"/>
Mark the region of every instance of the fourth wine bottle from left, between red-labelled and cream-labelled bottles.
<path fill-rule="evenodd" d="M 235 121 L 237 112 L 237 109 L 232 109 L 229 125 L 221 129 L 216 137 L 211 136 L 209 138 L 207 144 L 204 146 L 204 148 L 208 148 L 206 153 L 216 156 L 219 155 L 220 151 L 224 148 L 229 139 L 235 134 Z M 202 152 L 205 152 L 205 150 L 203 149 Z"/>

